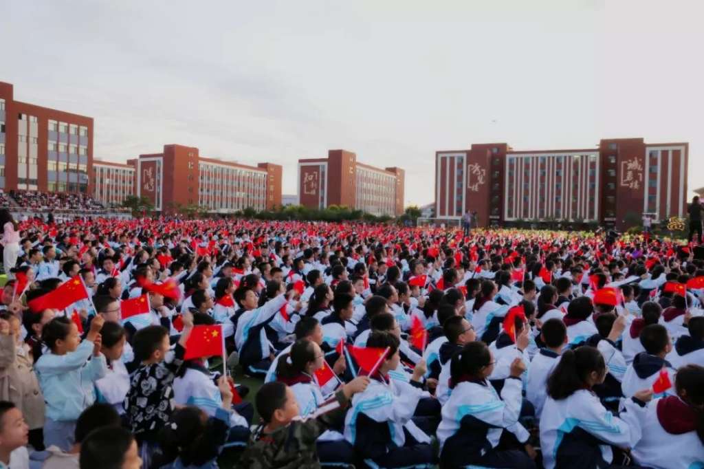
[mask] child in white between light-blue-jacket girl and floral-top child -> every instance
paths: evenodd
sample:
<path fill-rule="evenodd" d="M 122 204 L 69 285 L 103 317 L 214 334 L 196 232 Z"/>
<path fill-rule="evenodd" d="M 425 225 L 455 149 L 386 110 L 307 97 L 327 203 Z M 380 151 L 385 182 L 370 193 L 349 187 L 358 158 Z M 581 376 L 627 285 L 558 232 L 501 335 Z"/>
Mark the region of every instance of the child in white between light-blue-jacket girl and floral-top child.
<path fill-rule="evenodd" d="M 122 362 L 122 353 L 127 341 L 125 329 L 118 323 L 106 321 L 100 330 L 101 352 L 106 358 L 108 369 L 105 376 L 95 382 L 98 402 L 110 404 L 120 415 L 125 413 L 122 404 L 130 390 L 130 373 Z"/>

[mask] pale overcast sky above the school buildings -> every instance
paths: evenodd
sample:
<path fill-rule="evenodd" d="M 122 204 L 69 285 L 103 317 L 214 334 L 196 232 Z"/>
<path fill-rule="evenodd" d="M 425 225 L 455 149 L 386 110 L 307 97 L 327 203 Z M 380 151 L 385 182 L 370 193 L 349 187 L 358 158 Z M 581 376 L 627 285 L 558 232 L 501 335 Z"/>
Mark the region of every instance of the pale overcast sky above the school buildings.
<path fill-rule="evenodd" d="M 284 165 L 346 149 L 433 200 L 472 143 L 690 142 L 704 186 L 704 2 L 3 1 L 0 81 L 92 116 L 94 157 L 163 144 Z"/>

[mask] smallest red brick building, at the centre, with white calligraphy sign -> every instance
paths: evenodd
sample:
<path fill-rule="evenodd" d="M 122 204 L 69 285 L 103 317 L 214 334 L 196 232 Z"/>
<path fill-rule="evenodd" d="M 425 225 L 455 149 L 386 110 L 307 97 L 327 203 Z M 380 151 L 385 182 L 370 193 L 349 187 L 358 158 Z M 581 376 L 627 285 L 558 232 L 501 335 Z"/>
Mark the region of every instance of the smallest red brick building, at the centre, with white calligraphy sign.
<path fill-rule="evenodd" d="M 356 154 L 330 150 L 327 158 L 298 160 L 298 203 L 347 206 L 374 215 L 401 215 L 405 172 L 358 163 Z"/>

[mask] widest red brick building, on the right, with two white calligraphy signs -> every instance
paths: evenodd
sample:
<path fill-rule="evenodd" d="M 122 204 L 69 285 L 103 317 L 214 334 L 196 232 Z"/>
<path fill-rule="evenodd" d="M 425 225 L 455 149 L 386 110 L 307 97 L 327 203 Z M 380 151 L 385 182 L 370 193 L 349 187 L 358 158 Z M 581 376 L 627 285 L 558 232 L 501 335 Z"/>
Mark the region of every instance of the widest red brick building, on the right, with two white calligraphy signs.
<path fill-rule="evenodd" d="M 689 144 L 603 139 L 594 149 L 514 151 L 505 143 L 437 151 L 435 213 L 479 225 L 518 220 L 614 223 L 686 215 Z"/>

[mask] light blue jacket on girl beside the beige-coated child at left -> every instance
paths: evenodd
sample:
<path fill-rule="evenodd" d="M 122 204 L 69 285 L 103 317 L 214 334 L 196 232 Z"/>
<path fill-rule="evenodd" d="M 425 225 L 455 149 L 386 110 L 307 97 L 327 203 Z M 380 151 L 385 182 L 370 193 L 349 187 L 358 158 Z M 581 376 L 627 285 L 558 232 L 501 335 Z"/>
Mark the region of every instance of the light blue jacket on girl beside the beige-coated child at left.
<path fill-rule="evenodd" d="M 46 401 L 46 418 L 77 420 L 95 402 L 94 382 L 105 376 L 105 356 L 92 356 L 93 342 L 84 340 L 65 355 L 43 354 L 34 365 Z M 90 358 L 90 360 L 89 360 Z"/>

